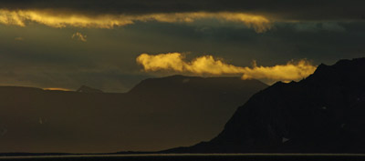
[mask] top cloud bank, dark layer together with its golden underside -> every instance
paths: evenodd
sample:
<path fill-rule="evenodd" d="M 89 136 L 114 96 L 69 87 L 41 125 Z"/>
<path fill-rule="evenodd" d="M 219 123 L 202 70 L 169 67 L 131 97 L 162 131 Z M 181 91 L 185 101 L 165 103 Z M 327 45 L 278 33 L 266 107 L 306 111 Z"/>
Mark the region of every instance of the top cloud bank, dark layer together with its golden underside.
<path fill-rule="evenodd" d="M 199 19 L 240 22 L 266 32 L 275 22 L 364 22 L 365 1 L 257 0 L 4 0 L 0 24 L 113 28 L 136 22 L 193 23 Z"/>

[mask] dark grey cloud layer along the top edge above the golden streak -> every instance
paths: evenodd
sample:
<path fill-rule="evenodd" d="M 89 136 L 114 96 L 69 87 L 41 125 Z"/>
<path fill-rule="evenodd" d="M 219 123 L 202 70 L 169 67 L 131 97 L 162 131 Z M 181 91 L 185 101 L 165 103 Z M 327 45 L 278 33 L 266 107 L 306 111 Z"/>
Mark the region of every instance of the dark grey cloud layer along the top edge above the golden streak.
<path fill-rule="evenodd" d="M 365 19 L 363 0 L 3 0 L 8 9 L 61 9 L 88 14 L 148 14 L 172 12 L 245 12 L 278 20 Z"/>

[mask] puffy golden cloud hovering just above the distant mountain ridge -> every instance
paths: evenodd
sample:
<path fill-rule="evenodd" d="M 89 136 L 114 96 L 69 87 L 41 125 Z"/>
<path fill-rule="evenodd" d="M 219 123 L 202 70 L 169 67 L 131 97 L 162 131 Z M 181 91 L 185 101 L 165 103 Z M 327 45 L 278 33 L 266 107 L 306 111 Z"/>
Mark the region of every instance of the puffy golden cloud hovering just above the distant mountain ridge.
<path fill-rule="evenodd" d="M 242 74 L 243 79 L 269 79 L 274 81 L 299 80 L 311 75 L 316 66 L 307 60 L 290 61 L 286 65 L 274 66 L 235 66 L 224 63 L 223 60 L 214 58 L 213 55 L 196 57 L 191 62 L 184 60 L 180 53 L 159 55 L 141 54 L 136 59 L 145 71 L 172 70 L 181 73 L 193 74 Z"/>

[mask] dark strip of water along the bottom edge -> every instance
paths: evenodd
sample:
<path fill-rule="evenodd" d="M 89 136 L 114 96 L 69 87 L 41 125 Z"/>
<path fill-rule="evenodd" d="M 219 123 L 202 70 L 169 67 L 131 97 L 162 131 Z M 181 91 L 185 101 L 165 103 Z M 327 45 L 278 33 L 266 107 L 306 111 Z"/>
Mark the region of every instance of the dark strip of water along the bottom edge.
<path fill-rule="evenodd" d="M 1 156 L 4 160 L 24 161 L 307 161 L 365 160 L 363 154 L 235 154 L 235 155 L 82 155 L 82 156 Z"/>

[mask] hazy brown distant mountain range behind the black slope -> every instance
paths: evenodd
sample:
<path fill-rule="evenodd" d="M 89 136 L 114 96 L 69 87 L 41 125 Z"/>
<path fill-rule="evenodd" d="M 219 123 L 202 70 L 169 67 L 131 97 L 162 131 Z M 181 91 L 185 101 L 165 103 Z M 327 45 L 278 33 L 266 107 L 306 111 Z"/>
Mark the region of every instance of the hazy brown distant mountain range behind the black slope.
<path fill-rule="evenodd" d="M 239 77 L 151 78 L 125 94 L 0 86 L 0 152 L 155 151 L 210 140 L 267 86 Z"/>

